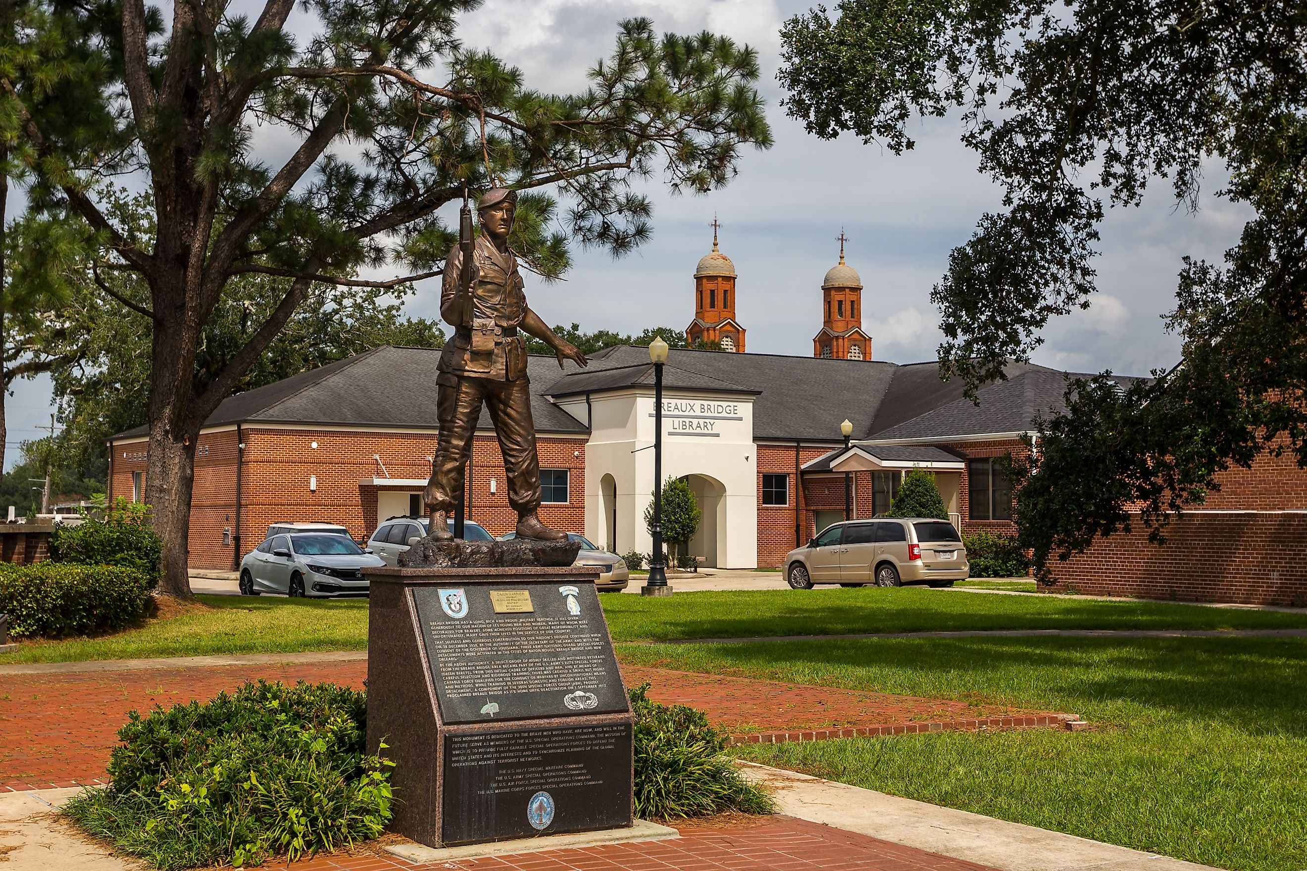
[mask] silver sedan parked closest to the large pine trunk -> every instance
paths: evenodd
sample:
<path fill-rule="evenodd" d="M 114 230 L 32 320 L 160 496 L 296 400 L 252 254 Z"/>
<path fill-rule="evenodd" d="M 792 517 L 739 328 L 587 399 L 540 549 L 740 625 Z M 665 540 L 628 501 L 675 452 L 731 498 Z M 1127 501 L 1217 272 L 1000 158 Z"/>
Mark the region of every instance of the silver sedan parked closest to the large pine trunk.
<path fill-rule="evenodd" d="M 349 535 L 284 533 L 265 538 L 240 560 L 240 594 L 367 595 L 362 569 L 384 564 Z"/>

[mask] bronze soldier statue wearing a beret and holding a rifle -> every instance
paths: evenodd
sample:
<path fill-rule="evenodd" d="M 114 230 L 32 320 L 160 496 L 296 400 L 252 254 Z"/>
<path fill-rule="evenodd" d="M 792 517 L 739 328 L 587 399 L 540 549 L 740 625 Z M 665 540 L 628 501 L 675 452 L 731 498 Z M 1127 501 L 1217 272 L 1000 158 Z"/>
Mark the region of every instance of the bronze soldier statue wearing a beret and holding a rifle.
<path fill-rule="evenodd" d="M 481 235 L 471 239 L 471 214 L 464 206 L 460 245 L 450 252 L 440 289 L 440 316 L 454 326 L 437 376 L 439 436 L 426 508 L 431 537 L 452 538 L 447 513 L 463 495 L 463 477 L 472 453 L 472 435 L 485 404 L 499 437 L 508 478 L 508 504 L 518 512 L 518 537 L 558 541 L 566 533 L 540 522 L 540 460 L 536 424 L 531 417 L 527 350 L 519 330 L 546 342 L 563 360 L 586 366 L 586 355 L 559 338 L 527 307 L 518 259 L 508 249 L 508 232 L 518 192 L 491 188 L 477 204 Z M 471 257 L 468 256 L 471 255 Z"/>

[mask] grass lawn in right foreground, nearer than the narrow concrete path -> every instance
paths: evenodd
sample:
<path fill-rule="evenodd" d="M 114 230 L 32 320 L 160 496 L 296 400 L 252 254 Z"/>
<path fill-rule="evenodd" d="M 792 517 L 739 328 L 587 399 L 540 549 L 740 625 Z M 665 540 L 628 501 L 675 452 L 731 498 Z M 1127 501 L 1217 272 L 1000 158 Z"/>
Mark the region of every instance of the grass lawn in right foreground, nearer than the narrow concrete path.
<path fill-rule="evenodd" d="M 937 733 L 736 752 L 1223 868 L 1307 868 L 1307 639 L 863 640 L 623 646 L 621 657 L 1078 713 L 1093 731 Z"/>

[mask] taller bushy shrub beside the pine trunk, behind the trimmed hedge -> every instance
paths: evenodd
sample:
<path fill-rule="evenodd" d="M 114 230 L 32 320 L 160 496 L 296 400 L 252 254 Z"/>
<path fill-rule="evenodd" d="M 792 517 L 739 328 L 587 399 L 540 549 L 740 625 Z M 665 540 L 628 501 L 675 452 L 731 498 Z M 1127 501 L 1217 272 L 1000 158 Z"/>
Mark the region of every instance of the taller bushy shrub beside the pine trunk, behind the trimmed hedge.
<path fill-rule="evenodd" d="M 149 505 L 114 500 L 103 520 L 86 517 L 76 526 L 60 526 L 50 538 L 56 563 L 135 568 L 158 584 L 163 569 L 163 542 L 150 529 Z"/>

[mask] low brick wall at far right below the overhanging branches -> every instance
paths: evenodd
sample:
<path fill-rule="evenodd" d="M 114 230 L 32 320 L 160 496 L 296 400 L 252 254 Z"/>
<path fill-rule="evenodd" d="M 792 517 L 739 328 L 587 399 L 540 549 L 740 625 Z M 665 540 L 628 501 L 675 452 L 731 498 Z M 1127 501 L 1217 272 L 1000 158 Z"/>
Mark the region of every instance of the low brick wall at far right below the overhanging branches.
<path fill-rule="evenodd" d="M 1307 605 L 1307 512 L 1193 511 L 1166 529 L 1166 545 L 1116 533 L 1065 563 L 1051 563 L 1056 593 L 1184 602 Z"/>

